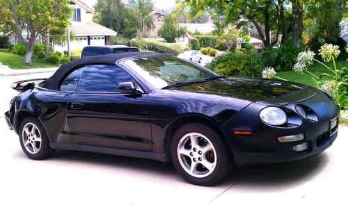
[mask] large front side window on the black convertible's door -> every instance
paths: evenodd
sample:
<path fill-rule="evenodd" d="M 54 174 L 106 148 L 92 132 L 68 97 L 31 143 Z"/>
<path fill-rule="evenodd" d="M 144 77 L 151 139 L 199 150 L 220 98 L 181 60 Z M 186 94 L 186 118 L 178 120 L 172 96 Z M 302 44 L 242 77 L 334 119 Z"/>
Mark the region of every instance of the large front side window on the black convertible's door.
<path fill-rule="evenodd" d="M 134 81 L 124 69 L 116 65 L 88 65 L 79 80 L 77 92 L 117 92 L 118 84 Z"/>

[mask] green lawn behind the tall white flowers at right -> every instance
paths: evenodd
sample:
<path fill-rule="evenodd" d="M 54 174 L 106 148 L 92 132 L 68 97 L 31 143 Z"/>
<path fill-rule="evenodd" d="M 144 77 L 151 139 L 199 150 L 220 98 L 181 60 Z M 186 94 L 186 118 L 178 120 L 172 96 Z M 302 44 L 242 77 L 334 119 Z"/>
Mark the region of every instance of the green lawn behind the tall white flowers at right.
<path fill-rule="evenodd" d="M 339 67 L 348 67 L 348 61 L 340 61 L 338 62 Z M 333 67 L 332 65 L 330 67 Z M 331 74 L 329 69 L 323 67 L 322 65 L 315 64 L 313 67 L 310 67 L 310 72 L 313 72 L 313 74 L 316 74 L 319 76 L 323 73 Z M 294 72 L 294 71 L 287 71 L 287 72 L 278 72 L 277 76 L 287 79 L 288 81 L 306 84 L 306 85 L 312 85 L 315 86 L 315 81 L 313 81 L 313 76 L 308 74 L 307 72 Z"/>

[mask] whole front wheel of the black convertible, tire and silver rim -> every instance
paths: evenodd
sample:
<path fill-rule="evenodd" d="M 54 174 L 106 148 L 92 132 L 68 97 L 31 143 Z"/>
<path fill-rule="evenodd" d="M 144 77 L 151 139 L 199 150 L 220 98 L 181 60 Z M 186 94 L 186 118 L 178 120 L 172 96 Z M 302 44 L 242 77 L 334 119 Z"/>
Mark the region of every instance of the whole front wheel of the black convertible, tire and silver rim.
<path fill-rule="evenodd" d="M 191 139 L 196 139 L 196 146 L 191 145 Z M 208 144 L 212 146 L 207 147 Z M 171 158 L 177 172 L 189 183 L 199 186 L 213 186 L 221 182 L 233 166 L 219 135 L 204 124 L 187 124 L 175 132 L 171 141 Z M 191 172 L 193 161 L 196 161 L 196 166 Z M 209 169 L 203 163 L 209 165 Z"/>

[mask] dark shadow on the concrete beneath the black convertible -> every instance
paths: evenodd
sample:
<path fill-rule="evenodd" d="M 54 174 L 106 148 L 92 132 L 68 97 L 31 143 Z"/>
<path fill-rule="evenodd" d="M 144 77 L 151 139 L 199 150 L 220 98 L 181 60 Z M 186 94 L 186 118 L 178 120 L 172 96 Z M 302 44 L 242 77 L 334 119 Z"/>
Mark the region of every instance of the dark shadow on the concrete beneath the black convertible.
<path fill-rule="evenodd" d="M 117 167 L 128 172 L 141 172 L 159 177 L 179 179 L 171 163 L 161 163 L 143 158 L 93 154 L 80 151 L 57 151 L 54 160 L 88 163 L 103 167 Z M 219 186 L 235 186 L 249 190 L 274 190 L 301 185 L 324 170 L 329 164 L 329 156 L 324 152 L 302 161 L 272 165 L 237 167 L 228 179 Z"/>

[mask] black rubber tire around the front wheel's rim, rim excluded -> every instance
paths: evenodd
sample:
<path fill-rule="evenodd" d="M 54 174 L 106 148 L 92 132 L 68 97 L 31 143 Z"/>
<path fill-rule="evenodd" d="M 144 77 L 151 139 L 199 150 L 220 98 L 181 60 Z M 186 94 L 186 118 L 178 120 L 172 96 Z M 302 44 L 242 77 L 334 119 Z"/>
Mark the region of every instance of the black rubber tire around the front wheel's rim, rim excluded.
<path fill-rule="evenodd" d="M 210 142 L 212 142 L 212 145 L 216 150 L 216 166 L 214 168 L 214 171 L 212 171 L 212 173 L 207 177 L 193 177 L 184 170 L 182 165 L 180 165 L 180 161 L 177 157 L 177 147 L 180 143 L 181 138 L 187 135 L 187 133 L 203 134 L 203 136 L 206 136 L 210 140 Z M 216 133 L 216 131 L 209 128 L 209 126 L 198 123 L 184 125 L 175 132 L 171 141 L 171 158 L 177 172 L 179 172 L 180 175 L 182 175 L 182 177 L 189 183 L 193 183 L 199 186 L 213 186 L 216 183 L 221 182 L 223 179 L 226 179 L 234 164 L 231 160 L 232 157 L 230 156 L 229 151 L 226 149 L 226 146 L 223 145 L 223 141 L 221 140 L 221 138 L 219 138 L 219 135 Z"/>

